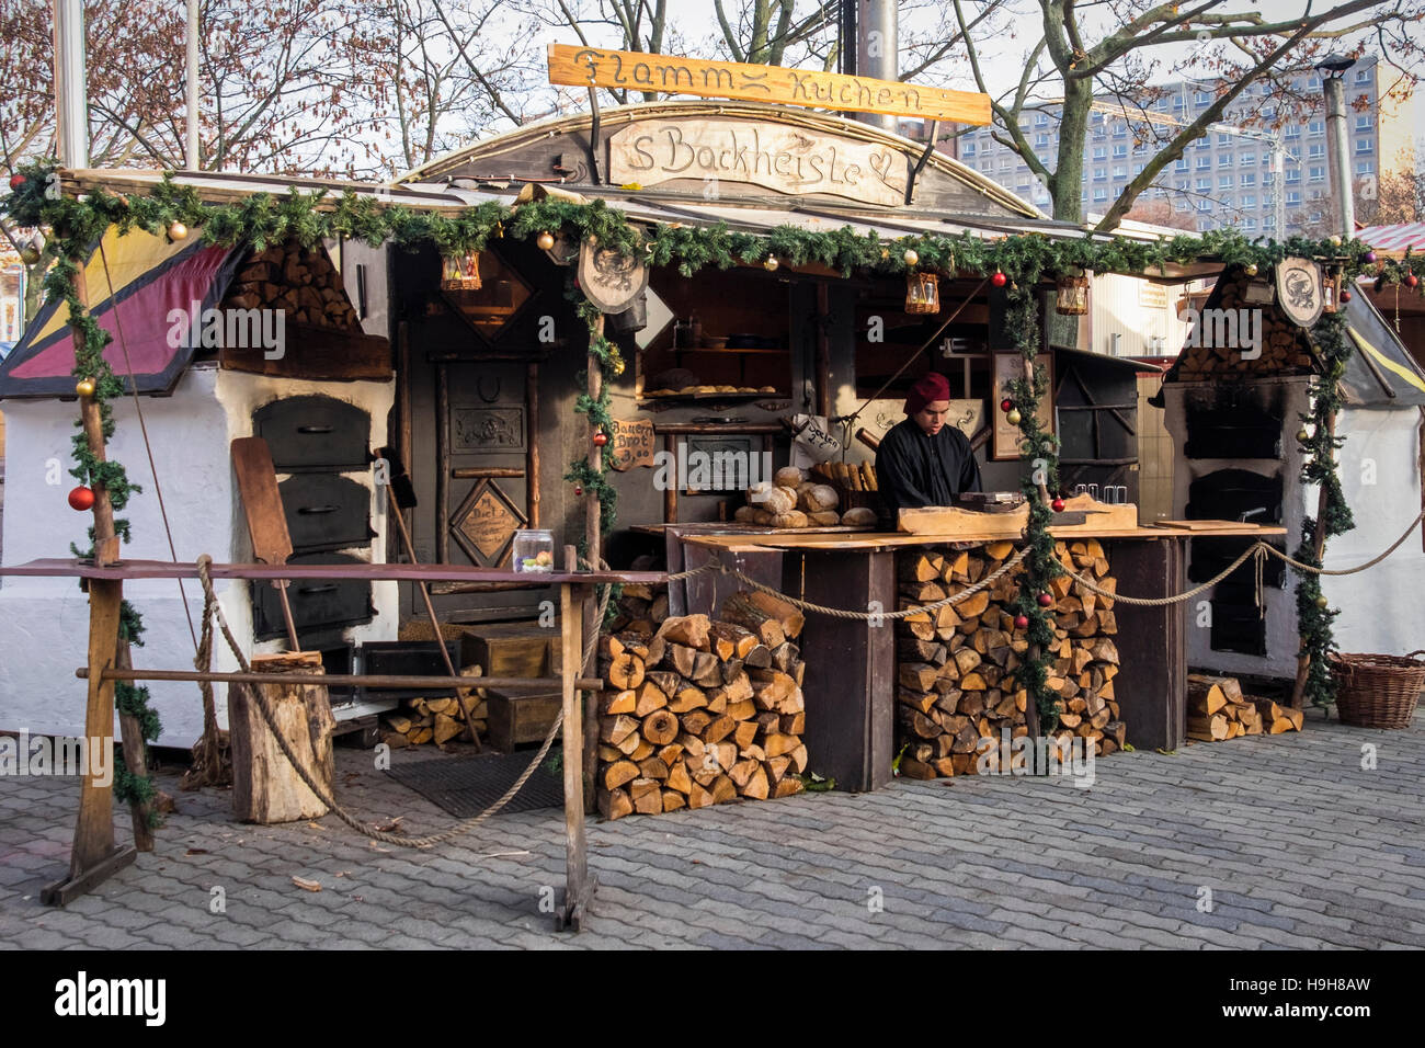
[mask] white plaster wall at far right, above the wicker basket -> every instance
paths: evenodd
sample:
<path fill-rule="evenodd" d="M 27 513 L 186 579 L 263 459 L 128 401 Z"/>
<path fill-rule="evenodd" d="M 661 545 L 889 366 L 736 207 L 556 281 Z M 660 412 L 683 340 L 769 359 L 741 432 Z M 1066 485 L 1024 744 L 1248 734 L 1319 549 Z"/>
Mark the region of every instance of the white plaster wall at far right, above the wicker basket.
<path fill-rule="evenodd" d="M 1338 453 L 1341 489 L 1355 528 L 1327 540 L 1325 566 L 1354 567 L 1378 556 L 1421 512 L 1421 416 L 1404 411 L 1347 408 Z M 1302 492 L 1317 512 L 1317 489 Z M 1324 576 L 1322 592 L 1341 609 L 1334 625 L 1342 652 L 1405 654 L 1425 647 L 1425 549 L 1419 529 L 1384 562 L 1358 575 Z"/>

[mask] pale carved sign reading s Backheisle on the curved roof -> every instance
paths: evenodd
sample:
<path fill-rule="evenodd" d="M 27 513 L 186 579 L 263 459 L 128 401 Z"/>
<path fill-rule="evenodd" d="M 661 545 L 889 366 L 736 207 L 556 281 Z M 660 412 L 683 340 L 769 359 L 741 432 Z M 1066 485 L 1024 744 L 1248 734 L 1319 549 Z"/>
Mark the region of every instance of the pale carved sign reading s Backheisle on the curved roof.
<path fill-rule="evenodd" d="M 644 120 L 610 137 L 608 174 L 620 185 L 693 178 L 898 207 L 905 204 L 906 158 L 888 145 L 768 121 Z"/>

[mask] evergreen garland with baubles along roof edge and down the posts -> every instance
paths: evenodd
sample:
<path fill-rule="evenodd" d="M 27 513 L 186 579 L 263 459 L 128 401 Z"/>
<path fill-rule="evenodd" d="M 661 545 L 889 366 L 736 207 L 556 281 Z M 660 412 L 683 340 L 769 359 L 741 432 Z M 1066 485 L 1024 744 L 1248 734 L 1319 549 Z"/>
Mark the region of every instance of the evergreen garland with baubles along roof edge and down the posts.
<path fill-rule="evenodd" d="M 725 224 L 637 225 L 623 211 L 603 200 L 579 204 L 546 198 L 514 207 L 487 201 L 452 215 L 389 205 L 370 195 L 348 192 L 333 197 L 325 191 L 302 192 L 295 187 L 281 195 L 254 194 L 239 202 L 208 204 L 200 198 L 195 188 L 178 185 L 167 175 L 142 197 L 94 190 L 81 198 L 66 198 L 41 190 L 54 184 L 50 178 L 54 170 L 53 161 L 24 168 L 21 174 L 26 175 L 26 181 L 0 200 L 0 210 L 23 227 L 53 228 L 50 251 L 56 255 L 56 262 L 46 278 L 46 289 L 51 301 L 64 301 L 70 308 L 70 319 L 76 328 L 76 376 L 90 376 L 97 384 L 95 399 L 104 412 L 105 439 L 113 432 L 113 416 L 107 401 L 123 395 L 124 384 L 113 375 L 103 359 L 108 335 L 83 309 L 74 289 L 74 277 L 91 245 L 110 225 L 121 232 L 141 228 L 162 235 L 178 221 L 197 230 L 205 244 L 249 244 L 256 250 L 294 238 L 302 247 L 312 247 L 323 238 L 348 238 L 370 245 L 390 242 L 410 251 L 433 242 L 443 254 L 479 251 L 492 237 L 506 234 L 527 240 L 540 232 L 561 231 L 573 234 L 580 241 L 591 240 L 603 248 L 644 258 L 654 267 L 674 267 L 685 277 L 707 267 L 725 269 L 740 262 L 762 262 L 768 258 L 792 265 L 821 264 L 844 275 L 855 269 L 884 275 L 903 274 L 909 268 L 939 271 L 946 275 L 986 277 L 996 269 L 1007 274 L 1013 281 L 1009 291 L 1009 335 L 1012 344 L 1033 366 L 1032 381 L 1017 379 L 1010 385 L 1010 399 L 1020 413 L 1020 446 L 1026 463 L 1022 490 L 1029 502 L 1029 526 L 1025 538 L 1030 549 L 1025 559 L 1015 609 L 1029 617 L 1030 650 L 1039 653 L 1037 659 L 1025 660 L 1019 680 L 1033 696 L 1040 717 L 1050 729 L 1056 721 L 1054 696 L 1046 690 L 1045 682 L 1047 667 L 1052 664 L 1047 650 L 1053 642 L 1053 616 L 1052 609 L 1039 606 L 1039 595 L 1049 592 L 1050 580 L 1063 569 L 1053 555 L 1054 543 L 1047 530 L 1052 512 L 1043 505 L 1035 472 L 1043 471 L 1039 476 L 1047 488 L 1053 489 L 1057 485 L 1057 438 L 1043 432 L 1036 418 L 1036 406 L 1046 392 L 1043 366 L 1035 362 L 1039 352 L 1036 285 L 1046 277 L 1054 278 L 1084 269 L 1137 275 L 1153 269 L 1166 272 L 1168 264 L 1186 265 L 1204 260 L 1221 262 L 1224 267 L 1254 264 L 1267 271 L 1290 255 L 1327 260 L 1338 267 L 1348 281 L 1354 281 L 1355 275 L 1368 267 L 1365 254 L 1369 251 L 1355 240 L 1342 244 L 1337 238 L 1312 241 L 1292 237 L 1278 244 L 1248 241 L 1234 230 L 1208 231 L 1200 237 L 1184 234 L 1157 241 L 1090 234 L 1077 240 L 1062 240 L 1033 232 L 993 241 L 969 232 L 953 237 L 922 234 L 886 241 L 874 232 L 856 232 L 849 225 L 826 231 L 779 225 L 751 234 L 728 230 Z M 915 251 L 913 267 L 906 262 L 908 250 Z M 1387 260 L 1379 264 L 1372 261 L 1369 265 L 1374 265 L 1372 271 L 1378 272 L 1385 284 L 1408 284 L 1414 278 L 1421 287 L 1421 294 L 1425 294 L 1425 257 L 1406 252 L 1404 260 Z M 621 359 L 617 346 L 596 334 L 596 307 L 574 288 L 570 288 L 570 297 L 577 302 L 579 317 L 590 329 L 589 345 L 604 376 L 600 395 L 597 398 L 581 395 L 576 402 L 576 411 L 587 415 L 591 426 L 601 428 L 607 433 L 611 432 L 613 422 L 608 413 L 610 386 L 623 369 Z M 1327 533 L 1338 535 L 1351 526 L 1349 509 L 1341 499 L 1331 453 L 1341 442 L 1328 441 L 1321 422 L 1338 406 L 1335 379 L 1351 352 L 1341 318 L 1332 315 L 1322 318 L 1318 342 L 1328 362 L 1328 374 L 1317 382 L 1312 412 L 1317 428 L 1308 442 L 1311 459 L 1304 469 L 1304 479 L 1327 486 Z M 597 466 L 580 456 L 570 463 L 564 475 L 566 481 L 581 485 L 589 495 L 598 499 L 604 532 L 608 532 L 617 520 L 617 493 L 607 476 L 610 453 L 606 446 L 596 459 Z M 74 475 L 94 486 L 103 486 L 115 510 L 138 490 L 128 483 L 120 463 L 97 462 L 88 453 L 83 436 L 74 442 Z M 120 533 L 127 542 L 128 523 L 115 520 L 115 529 L 120 526 Z M 1307 532 L 1312 526 L 1314 522 L 1308 520 Z M 1310 552 L 1307 546 L 1305 556 L 1300 552 L 1298 556 L 1310 559 Z M 1330 626 L 1337 613 L 1317 607 L 1318 595 L 1317 577 L 1305 577 L 1298 587 L 1298 609 L 1302 646 L 1312 654 L 1312 683 L 1308 693 L 1312 702 L 1330 702 L 1331 686 L 1324 654 L 1332 646 Z M 147 737 L 150 729 L 157 734 L 157 719 L 137 713 L 147 710 L 147 704 L 140 699 L 142 693 L 142 689 L 115 689 L 118 700 L 144 721 Z M 138 786 L 121 788 L 142 791 Z"/>

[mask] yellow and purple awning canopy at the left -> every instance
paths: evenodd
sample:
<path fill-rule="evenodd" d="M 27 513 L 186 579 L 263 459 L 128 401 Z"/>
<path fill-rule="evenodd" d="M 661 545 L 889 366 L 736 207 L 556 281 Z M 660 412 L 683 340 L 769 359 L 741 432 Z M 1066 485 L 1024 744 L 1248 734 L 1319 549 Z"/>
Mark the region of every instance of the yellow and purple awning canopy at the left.
<path fill-rule="evenodd" d="M 222 301 L 241 257 L 238 248 L 110 228 L 84 265 L 84 287 L 90 314 L 113 339 L 104 359 L 114 374 L 131 374 L 141 394 L 171 392 L 192 359 L 194 312 Z M 170 319 L 177 309 L 182 318 Z M 50 302 L 0 364 L 0 399 L 73 395 L 73 372 L 68 308 Z"/>

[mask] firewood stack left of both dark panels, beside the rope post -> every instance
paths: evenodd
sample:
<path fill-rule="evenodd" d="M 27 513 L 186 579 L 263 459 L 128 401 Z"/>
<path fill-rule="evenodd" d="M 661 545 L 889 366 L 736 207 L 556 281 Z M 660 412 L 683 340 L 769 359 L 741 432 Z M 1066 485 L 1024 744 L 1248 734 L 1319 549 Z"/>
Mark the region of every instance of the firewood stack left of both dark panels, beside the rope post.
<path fill-rule="evenodd" d="M 799 793 L 801 627 L 787 602 L 738 593 L 718 622 L 690 615 L 651 636 L 604 636 L 598 810 L 621 818 Z"/>

